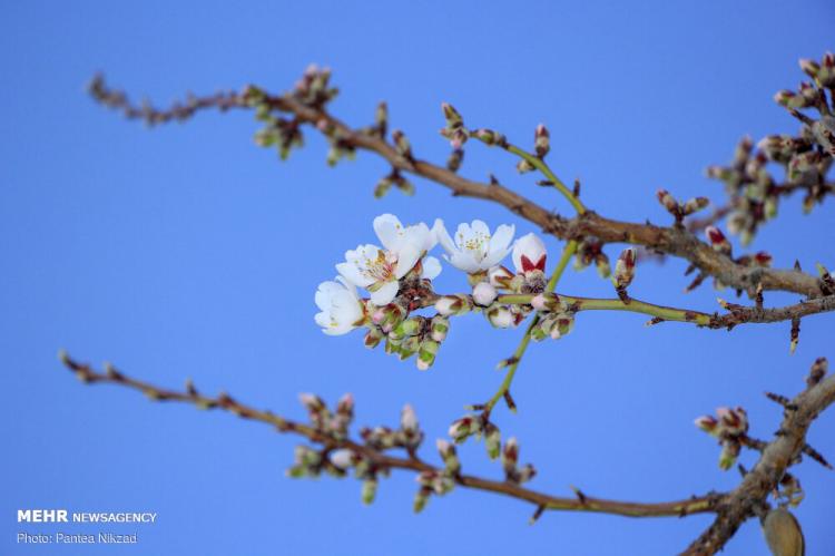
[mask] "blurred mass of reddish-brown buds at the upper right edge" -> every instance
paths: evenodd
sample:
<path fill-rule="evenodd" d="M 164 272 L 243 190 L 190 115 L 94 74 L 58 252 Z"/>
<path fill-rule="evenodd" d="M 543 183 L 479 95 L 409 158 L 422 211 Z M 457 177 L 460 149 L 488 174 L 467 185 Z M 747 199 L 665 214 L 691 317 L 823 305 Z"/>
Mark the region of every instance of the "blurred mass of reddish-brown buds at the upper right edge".
<path fill-rule="evenodd" d="M 809 212 L 834 192 L 825 179 L 835 157 L 835 55 L 827 52 L 821 62 L 800 60 L 800 69 L 812 78 L 796 91 L 780 90 L 774 99 L 802 124 L 797 136 L 769 135 L 755 145 L 745 137 L 736 148 L 728 166 L 710 166 L 708 177 L 720 179 L 730 197 L 733 213 L 728 231 L 739 234 L 747 245 L 757 228 L 777 215 L 780 196 L 794 191 L 805 192 L 804 212 Z M 827 101 L 825 89 L 829 89 Z M 812 117 L 800 110 L 815 110 Z M 785 182 L 778 184 L 768 165 L 782 166 Z"/>

